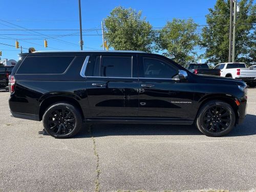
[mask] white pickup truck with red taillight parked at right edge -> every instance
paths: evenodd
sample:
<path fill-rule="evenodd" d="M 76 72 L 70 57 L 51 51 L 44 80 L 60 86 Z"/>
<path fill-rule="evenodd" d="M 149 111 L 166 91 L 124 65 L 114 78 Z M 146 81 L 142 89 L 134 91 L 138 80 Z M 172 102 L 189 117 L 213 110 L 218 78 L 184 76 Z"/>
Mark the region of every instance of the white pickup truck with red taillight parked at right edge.
<path fill-rule="evenodd" d="M 220 69 L 222 77 L 240 79 L 246 82 L 250 87 L 256 86 L 256 69 L 246 68 L 244 62 L 225 62 L 214 67 Z"/>

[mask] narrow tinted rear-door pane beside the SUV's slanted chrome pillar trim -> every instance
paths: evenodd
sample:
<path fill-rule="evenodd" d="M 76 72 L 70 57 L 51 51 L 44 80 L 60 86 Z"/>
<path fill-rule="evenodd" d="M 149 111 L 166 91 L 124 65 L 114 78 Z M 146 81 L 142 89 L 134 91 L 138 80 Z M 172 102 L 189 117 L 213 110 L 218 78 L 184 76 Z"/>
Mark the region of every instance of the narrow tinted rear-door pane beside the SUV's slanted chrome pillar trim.
<path fill-rule="evenodd" d="M 90 60 L 86 68 L 86 76 L 95 76 L 99 77 L 100 74 L 100 56 L 90 57 Z"/>

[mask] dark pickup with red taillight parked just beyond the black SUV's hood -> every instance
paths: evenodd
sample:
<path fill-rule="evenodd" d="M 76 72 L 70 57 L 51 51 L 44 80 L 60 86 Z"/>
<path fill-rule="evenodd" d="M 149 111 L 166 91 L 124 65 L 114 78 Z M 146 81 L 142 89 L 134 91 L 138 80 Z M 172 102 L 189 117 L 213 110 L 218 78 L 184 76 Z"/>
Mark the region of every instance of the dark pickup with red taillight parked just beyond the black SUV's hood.
<path fill-rule="evenodd" d="M 185 65 L 185 68 L 194 74 L 203 74 L 203 75 L 221 75 L 220 69 L 209 69 L 209 66 L 206 63 L 189 63 Z"/>

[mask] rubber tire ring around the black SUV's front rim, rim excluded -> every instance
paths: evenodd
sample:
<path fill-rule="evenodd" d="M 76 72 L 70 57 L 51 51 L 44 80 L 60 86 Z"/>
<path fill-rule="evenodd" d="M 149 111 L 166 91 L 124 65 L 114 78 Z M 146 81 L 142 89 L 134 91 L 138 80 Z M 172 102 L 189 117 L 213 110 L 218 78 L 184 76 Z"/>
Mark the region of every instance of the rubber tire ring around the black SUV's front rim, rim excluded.
<path fill-rule="evenodd" d="M 203 117 L 204 117 L 205 112 L 209 108 L 211 108 L 212 106 L 215 106 L 215 105 L 222 106 L 223 108 L 225 108 L 230 113 L 230 118 L 231 118 L 230 124 L 227 127 L 227 129 L 220 133 L 212 133 L 212 132 L 208 131 L 206 129 L 206 127 L 204 127 L 204 124 L 203 124 Z M 210 102 L 210 103 L 207 103 L 206 105 L 204 105 L 202 110 L 199 112 L 199 116 L 197 118 L 198 129 L 206 136 L 211 136 L 211 137 L 219 137 L 219 136 L 228 134 L 233 129 L 235 122 L 236 122 L 236 114 L 234 114 L 232 107 L 229 104 L 227 104 L 225 102 L 221 102 L 221 101 L 214 101 L 214 102 Z"/>

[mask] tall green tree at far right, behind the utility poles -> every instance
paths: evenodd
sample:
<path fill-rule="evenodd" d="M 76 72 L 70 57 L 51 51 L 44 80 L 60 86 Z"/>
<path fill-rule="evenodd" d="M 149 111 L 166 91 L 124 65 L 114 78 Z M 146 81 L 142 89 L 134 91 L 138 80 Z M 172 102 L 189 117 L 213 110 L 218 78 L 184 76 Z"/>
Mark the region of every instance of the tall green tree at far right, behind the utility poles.
<path fill-rule="evenodd" d="M 229 49 L 229 12 L 230 2 L 217 0 L 214 9 L 209 9 L 206 15 L 208 26 L 202 30 L 202 47 L 206 48 L 205 58 L 208 62 L 228 61 Z M 255 62 L 255 30 L 256 6 L 253 0 L 241 0 L 240 12 L 237 13 L 236 24 L 236 56 L 240 62 Z M 255 34 L 255 32 L 254 32 Z M 252 48 L 254 47 L 254 52 Z"/>

